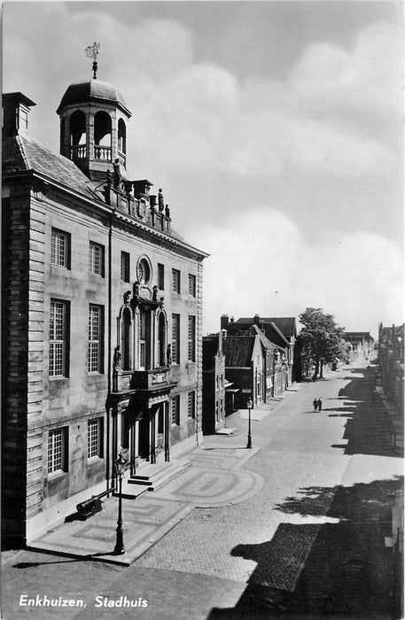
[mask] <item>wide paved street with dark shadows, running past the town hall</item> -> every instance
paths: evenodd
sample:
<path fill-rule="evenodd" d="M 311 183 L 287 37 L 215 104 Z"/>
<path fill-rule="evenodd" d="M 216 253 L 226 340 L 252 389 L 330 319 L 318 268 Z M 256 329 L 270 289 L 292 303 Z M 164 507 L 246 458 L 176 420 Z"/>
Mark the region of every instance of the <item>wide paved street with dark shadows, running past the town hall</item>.
<path fill-rule="evenodd" d="M 373 393 L 373 369 L 358 363 L 292 390 L 267 407 L 269 415 L 258 415 L 266 406 L 253 411 L 260 449 L 248 461 L 237 456 L 245 453 L 241 412 L 227 420 L 233 435 L 206 438 L 183 477 L 148 493 L 165 507 L 190 505 L 194 493 L 192 506 L 200 508 L 187 510 L 129 567 L 27 551 L 9 558 L 5 620 L 392 617 L 392 550 L 384 539 L 402 459 Z M 321 413 L 312 410 L 315 397 L 323 399 Z M 217 498 L 204 503 L 210 486 Z M 86 607 L 28 608 L 19 604 L 24 594 Z M 147 606 L 97 606 L 97 596 Z"/>

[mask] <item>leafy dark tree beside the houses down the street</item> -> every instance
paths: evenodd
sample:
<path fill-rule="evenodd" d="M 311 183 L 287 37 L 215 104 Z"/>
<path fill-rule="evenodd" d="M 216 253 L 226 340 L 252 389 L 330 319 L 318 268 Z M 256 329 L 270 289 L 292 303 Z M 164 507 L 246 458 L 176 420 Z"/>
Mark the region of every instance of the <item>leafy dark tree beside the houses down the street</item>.
<path fill-rule="evenodd" d="M 308 307 L 300 314 L 300 330 L 303 352 L 315 362 L 315 376 L 323 376 L 323 364 L 344 356 L 346 343 L 344 329 L 335 322 L 332 314 L 324 314 L 322 308 Z"/>

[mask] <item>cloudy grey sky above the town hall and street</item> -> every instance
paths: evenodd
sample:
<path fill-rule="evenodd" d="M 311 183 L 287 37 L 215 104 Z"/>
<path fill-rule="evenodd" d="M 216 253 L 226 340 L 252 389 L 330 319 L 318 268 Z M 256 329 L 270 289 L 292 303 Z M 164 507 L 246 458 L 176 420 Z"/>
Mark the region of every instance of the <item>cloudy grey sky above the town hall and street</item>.
<path fill-rule="evenodd" d="M 91 78 L 132 117 L 131 179 L 163 188 L 173 227 L 209 252 L 204 331 L 221 314 L 321 307 L 378 335 L 403 322 L 401 3 L 5 2 L 3 91 L 56 109 Z"/>

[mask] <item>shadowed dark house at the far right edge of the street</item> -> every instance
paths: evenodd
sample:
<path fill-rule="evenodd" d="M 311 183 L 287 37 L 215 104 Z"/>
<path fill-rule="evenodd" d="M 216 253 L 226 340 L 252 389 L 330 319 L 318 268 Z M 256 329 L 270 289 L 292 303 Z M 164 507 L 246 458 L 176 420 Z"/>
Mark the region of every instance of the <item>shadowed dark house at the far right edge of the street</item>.
<path fill-rule="evenodd" d="M 384 391 L 397 407 L 403 408 L 404 324 L 378 325 L 378 365 Z"/>

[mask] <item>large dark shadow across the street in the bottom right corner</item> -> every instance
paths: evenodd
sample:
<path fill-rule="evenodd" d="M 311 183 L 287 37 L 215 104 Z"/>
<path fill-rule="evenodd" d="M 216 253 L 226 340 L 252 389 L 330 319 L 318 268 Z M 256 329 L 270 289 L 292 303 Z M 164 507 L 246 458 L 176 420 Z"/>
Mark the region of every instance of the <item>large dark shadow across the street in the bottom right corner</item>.
<path fill-rule="evenodd" d="M 276 508 L 287 514 L 326 515 L 339 523 L 281 523 L 273 539 L 238 545 L 231 554 L 257 562 L 235 608 L 220 618 L 401 617 L 401 562 L 386 548 L 393 497 L 403 477 L 351 487 L 308 487 Z M 328 508 L 329 507 L 329 508 Z M 395 560 L 397 563 L 395 564 Z"/>

